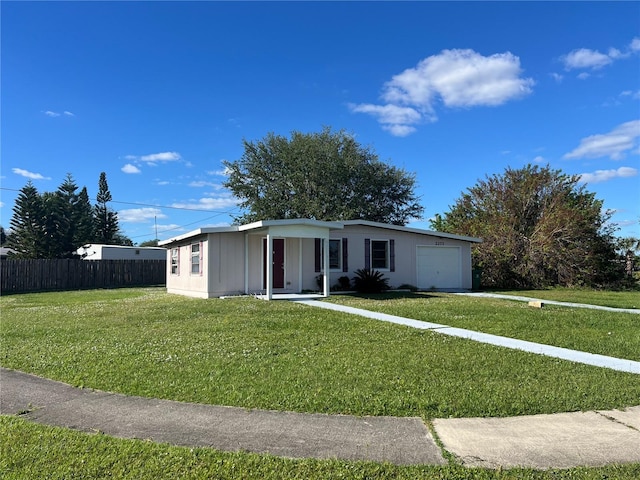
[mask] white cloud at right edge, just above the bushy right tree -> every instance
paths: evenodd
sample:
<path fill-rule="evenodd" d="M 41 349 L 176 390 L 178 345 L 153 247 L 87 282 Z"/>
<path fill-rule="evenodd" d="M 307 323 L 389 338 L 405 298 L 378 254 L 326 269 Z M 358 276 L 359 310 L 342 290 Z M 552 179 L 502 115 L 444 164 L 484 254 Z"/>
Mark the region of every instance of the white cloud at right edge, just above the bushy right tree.
<path fill-rule="evenodd" d="M 609 157 L 612 160 L 620 160 L 626 152 L 637 149 L 638 138 L 640 138 L 640 120 L 632 120 L 618 125 L 609 133 L 583 138 L 580 145 L 565 154 L 563 158 Z"/>

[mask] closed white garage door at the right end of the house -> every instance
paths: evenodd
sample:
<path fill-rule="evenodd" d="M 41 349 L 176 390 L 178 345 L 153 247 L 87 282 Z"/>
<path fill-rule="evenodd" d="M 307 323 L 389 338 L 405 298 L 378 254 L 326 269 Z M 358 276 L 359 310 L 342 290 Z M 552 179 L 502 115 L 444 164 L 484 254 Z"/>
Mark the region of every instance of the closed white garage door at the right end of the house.
<path fill-rule="evenodd" d="M 461 288 L 460 247 L 418 247 L 418 288 Z"/>

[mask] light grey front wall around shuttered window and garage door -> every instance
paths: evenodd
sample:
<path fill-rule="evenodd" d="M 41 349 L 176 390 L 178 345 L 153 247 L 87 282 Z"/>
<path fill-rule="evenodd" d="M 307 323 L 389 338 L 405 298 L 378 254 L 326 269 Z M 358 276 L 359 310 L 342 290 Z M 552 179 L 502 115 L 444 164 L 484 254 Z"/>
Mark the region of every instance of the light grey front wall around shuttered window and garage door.
<path fill-rule="evenodd" d="M 370 240 L 394 240 L 395 271 L 377 269 L 389 278 L 389 284 L 392 287 L 398 287 L 405 283 L 416 285 L 417 247 L 437 245 L 460 248 L 461 288 L 471 288 L 471 244 L 469 242 L 367 225 L 345 225 L 344 230 L 332 231 L 331 238 L 347 238 L 348 246 L 348 272 L 332 271 L 331 285 L 338 283 L 338 278 L 344 275 L 352 279 L 356 270 L 365 268 L 365 239 L 368 238 Z"/>

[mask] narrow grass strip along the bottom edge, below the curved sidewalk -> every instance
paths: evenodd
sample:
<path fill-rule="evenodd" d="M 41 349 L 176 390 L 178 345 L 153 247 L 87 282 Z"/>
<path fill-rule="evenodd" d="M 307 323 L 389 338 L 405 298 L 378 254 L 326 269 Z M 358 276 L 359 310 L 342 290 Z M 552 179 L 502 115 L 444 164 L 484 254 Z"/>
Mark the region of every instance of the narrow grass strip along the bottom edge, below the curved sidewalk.
<path fill-rule="evenodd" d="M 141 440 L 47 427 L 0 416 L 0 477 L 48 479 L 451 479 L 635 480 L 640 464 L 535 471 L 458 465 L 395 466 L 337 460 L 292 460 L 269 455 L 172 447 Z"/>

